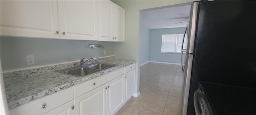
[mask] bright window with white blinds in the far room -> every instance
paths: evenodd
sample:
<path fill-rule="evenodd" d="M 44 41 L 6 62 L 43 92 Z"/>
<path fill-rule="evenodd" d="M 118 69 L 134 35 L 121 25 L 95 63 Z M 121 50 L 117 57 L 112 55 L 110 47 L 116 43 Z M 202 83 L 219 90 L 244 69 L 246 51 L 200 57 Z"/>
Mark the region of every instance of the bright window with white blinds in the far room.
<path fill-rule="evenodd" d="M 162 35 L 161 53 L 180 53 L 182 39 L 184 34 L 166 34 Z M 187 34 L 185 34 L 183 48 L 187 48 Z"/>

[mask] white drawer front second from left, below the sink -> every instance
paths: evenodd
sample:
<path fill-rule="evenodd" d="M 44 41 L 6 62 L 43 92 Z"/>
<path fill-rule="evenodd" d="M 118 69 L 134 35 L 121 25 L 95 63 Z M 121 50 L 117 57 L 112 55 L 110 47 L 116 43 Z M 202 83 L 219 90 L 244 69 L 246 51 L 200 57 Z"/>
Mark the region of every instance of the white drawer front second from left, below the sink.
<path fill-rule="evenodd" d="M 87 93 L 91 91 L 92 89 L 95 89 L 96 87 L 99 87 L 100 85 L 107 82 L 106 75 L 98 76 L 94 79 L 90 79 L 89 81 L 86 81 L 84 83 L 80 83 L 78 85 L 74 85 L 74 98 L 79 97 L 83 95 L 84 93 Z"/>

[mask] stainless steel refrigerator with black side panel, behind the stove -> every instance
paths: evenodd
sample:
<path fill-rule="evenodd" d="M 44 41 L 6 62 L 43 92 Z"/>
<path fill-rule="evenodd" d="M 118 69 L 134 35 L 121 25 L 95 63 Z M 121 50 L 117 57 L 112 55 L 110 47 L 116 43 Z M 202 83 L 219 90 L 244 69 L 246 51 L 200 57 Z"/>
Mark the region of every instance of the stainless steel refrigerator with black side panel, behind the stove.
<path fill-rule="evenodd" d="M 184 55 L 186 52 L 186 60 L 182 60 L 186 61 L 182 67 L 182 115 L 195 115 L 194 92 L 200 81 L 246 87 L 255 94 L 255 34 L 256 1 L 216 0 L 192 3 L 187 48 L 182 49 L 181 53 Z M 218 95 L 225 96 L 228 93 Z M 255 99 L 252 101 L 255 102 Z"/>

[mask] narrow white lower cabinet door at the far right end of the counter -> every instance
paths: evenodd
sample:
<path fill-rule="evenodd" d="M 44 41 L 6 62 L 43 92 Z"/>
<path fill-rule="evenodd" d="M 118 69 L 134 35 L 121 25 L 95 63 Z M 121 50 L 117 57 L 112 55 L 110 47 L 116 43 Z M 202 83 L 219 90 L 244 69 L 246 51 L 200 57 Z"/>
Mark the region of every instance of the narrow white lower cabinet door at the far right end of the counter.
<path fill-rule="evenodd" d="M 125 100 L 132 97 L 135 87 L 135 69 L 125 74 Z"/>

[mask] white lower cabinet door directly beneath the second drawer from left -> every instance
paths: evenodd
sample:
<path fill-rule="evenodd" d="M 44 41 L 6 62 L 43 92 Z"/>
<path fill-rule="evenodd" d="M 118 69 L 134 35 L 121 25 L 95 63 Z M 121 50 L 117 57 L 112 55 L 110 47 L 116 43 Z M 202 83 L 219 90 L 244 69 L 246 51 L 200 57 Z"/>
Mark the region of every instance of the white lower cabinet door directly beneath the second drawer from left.
<path fill-rule="evenodd" d="M 106 84 L 75 100 L 76 115 L 106 115 Z"/>

